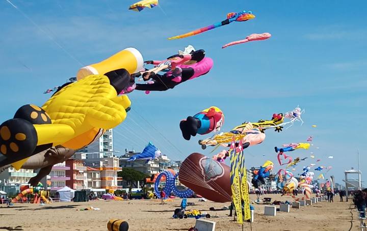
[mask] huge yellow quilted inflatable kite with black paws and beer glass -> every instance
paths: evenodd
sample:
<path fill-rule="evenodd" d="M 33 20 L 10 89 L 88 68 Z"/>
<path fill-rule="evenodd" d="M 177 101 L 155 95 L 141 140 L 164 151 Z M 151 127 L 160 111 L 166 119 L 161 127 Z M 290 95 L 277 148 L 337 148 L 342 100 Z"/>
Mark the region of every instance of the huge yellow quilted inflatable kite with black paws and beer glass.
<path fill-rule="evenodd" d="M 143 66 L 143 57 L 135 48 L 116 55 L 125 57 L 121 69 L 113 71 L 111 60 L 94 65 L 98 74 L 78 75 L 78 81 L 64 84 L 42 107 L 24 105 L 0 125 L 0 166 L 20 168 L 28 157 L 57 145 L 81 149 L 123 122 L 130 100 L 118 94 Z"/>

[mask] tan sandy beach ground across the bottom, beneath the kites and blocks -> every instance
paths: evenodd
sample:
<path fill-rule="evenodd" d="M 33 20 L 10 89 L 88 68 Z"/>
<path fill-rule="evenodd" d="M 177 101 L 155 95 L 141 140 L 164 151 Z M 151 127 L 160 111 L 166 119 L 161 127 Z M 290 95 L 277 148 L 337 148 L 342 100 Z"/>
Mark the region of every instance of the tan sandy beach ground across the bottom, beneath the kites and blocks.
<path fill-rule="evenodd" d="M 292 197 L 267 195 L 273 200 L 292 200 Z M 250 199 L 254 200 L 255 195 Z M 255 221 L 252 230 L 360 230 L 357 212 L 349 202 L 322 202 L 301 209 L 291 209 L 290 213 L 278 212 L 275 217 L 264 216 L 264 205 L 255 206 Z M 199 202 L 190 198 L 195 206 L 188 209 L 207 211 L 216 221 L 216 230 L 242 230 L 241 225 L 228 217 L 229 211 L 209 211 L 228 206 L 230 203 Z M 37 204 L 15 204 L 6 208 L 0 205 L 0 230 L 107 230 L 107 222 L 112 218 L 126 220 L 129 230 L 188 230 L 195 225 L 195 218 L 172 219 L 173 211 L 179 208 L 180 199 L 160 205 L 160 200 L 95 200 L 86 203 L 52 203 L 45 206 Z M 93 206 L 99 211 L 77 211 Z M 353 217 L 352 217 L 353 215 Z M 351 228 L 351 229 L 350 229 Z M 250 224 L 244 223 L 244 230 Z"/>

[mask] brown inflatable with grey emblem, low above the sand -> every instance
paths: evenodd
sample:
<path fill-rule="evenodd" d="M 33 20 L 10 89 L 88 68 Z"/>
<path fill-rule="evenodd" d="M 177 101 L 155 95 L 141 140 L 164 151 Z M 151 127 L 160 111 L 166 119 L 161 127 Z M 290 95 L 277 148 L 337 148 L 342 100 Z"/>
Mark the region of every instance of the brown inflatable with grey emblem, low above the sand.
<path fill-rule="evenodd" d="M 232 199 L 229 174 L 228 165 L 193 153 L 182 162 L 179 180 L 204 198 L 224 203 Z"/>

